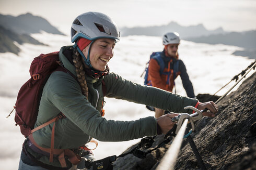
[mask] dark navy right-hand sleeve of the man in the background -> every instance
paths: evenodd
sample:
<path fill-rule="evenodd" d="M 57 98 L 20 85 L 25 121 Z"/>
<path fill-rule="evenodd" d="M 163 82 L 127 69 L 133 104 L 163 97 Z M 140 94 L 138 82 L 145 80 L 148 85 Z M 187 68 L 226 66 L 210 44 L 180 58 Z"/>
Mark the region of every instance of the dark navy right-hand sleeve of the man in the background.
<path fill-rule="evenodd" d="M 179 61 L 179 71 L 180 71 L 180 77 L 183 84 L 183 87 L 187 93 L 187 96 L 190 98 L 195 98 L 194 89 L 191 81 L 189 80 L 189 75 L 187 73 L 187 69 L 185 67 L 185 64 L 183 61 Z"/>

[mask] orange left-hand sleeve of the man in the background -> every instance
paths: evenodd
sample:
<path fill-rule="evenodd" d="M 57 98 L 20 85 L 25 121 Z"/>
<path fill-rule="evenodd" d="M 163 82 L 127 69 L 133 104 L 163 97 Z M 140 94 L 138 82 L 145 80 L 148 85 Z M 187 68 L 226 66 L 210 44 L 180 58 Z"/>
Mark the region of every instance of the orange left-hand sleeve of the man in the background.
<path fill-rule="evenodd" d="M 160 66 L 155 59 L 151 59 L 148 65 L 148 78 L 151 80 L 152 86 L 160 89 L 168 90 L 166 83 L 161 80 Z"/>

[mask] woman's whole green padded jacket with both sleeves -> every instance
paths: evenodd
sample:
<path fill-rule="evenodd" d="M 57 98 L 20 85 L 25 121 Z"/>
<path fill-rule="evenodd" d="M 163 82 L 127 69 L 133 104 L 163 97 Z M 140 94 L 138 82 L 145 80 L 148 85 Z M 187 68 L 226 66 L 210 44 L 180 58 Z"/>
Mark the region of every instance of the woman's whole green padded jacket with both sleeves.
<path fill-rule="evenodd" d="M 75 67 L 60 50 L 60 60 L 64 67 L 76 76 Z M 62 71 L 55 71 L 46 82 L 39 105 L 39 113 L 35 127 L 53 119 L 60 112 L 67 118 L 58 120 L 55 124 L 55 149 L 74 149 L 89 142 L 91 137 L 100 141 L 126 141 L 157 134 L 157 123 L 153 116 L 136 121 L 106 120 L 101 116 L 103 103 L 102 80 L 106 83 L 106 97 L 113 97 L 146 104 L 149 106 L 173 112 L 188 112 L 185 106 L 195 106 L 196 99 L 182 97 L 167 91 L 143 86 L 123 79 L 121 76 L 109 73 L 107 76 L 95 79 L 86 76 L 88 85 L 88 100 L 74 77 Z M 53 123 L 33 133 L 39 146 L 50 148 Z M 37 156 L 32 150 L 29 150 Z M 49 157 L 42 156 L 39 161 L 49 164 Z M 57 159 L 52 164 L 60 166 Z"/>

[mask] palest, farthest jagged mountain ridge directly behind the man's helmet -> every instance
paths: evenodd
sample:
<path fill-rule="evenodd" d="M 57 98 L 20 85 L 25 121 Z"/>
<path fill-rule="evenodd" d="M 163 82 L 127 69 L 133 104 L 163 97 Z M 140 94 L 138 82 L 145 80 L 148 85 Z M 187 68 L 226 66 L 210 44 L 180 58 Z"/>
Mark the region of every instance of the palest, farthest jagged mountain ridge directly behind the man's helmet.
<path fill-rule="evenodd" d="M 150 27 L 133 27 L 133 28 L 121 28 L 121 36 L 128 35 L 147 35 L 147 36 L 162 36 L 167 32 L 178 32 L 181 38 L 199 37 L 211 34 L 224 34 L 226 33 L 222 28 L 215 30 L 205 29 L 203 24 L 181 26 L 177 22 L 170 22 L 167 25 L 150 26 Z"/>

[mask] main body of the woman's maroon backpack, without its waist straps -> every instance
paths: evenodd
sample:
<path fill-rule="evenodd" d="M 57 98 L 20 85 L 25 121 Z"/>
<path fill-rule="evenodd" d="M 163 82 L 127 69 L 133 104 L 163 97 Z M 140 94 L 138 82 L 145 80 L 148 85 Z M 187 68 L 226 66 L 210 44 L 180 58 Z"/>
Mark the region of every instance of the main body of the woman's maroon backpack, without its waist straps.
<path fill-rule="evenodd" d="M 36 123 L 43 87 L 53 71 L 68 72 L 60 66 L 59 52 L 41 54 L 33 59 L 29 72 L 31 78 L 21 86 L 15 104 L 15 122 L 27 137 Z"/>

